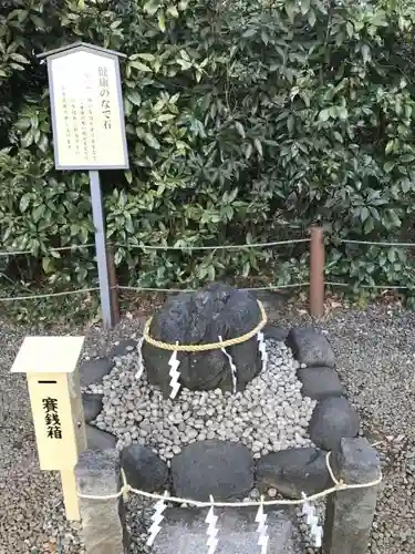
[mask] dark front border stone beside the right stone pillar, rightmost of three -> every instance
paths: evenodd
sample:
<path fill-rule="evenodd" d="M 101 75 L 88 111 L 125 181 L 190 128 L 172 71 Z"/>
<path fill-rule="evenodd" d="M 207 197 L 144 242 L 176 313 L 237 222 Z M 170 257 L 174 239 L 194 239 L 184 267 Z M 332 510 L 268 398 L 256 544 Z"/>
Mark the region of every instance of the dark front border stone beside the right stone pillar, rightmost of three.
<path fill-rule="evenodd" d="M 314 448 L 298 448 L 271 452 L 257 462 L 257 486 L 266 492 L 270 486 L 284 496 L 301 499 L 301 493 L 315 494 L 330 486 L 325 452 Z"/>

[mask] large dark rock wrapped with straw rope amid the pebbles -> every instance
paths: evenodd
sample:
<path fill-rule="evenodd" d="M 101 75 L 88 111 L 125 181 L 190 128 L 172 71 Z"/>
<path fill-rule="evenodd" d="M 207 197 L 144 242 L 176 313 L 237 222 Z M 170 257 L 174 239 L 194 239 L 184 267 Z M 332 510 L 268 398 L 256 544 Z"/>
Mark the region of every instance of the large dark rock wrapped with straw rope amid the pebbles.
<path fill-rule="evenodd" d="M 169 298 L 155 315 L 151 336 L 165 342 L 203 345 L 240 337 L 260 321 L 257 300 L 242 290 L 212 284 L 196 294 Z M 257 337 L 227 349 L 238 371 L 238 390 L 256 377 L 261 368 Z M 168 366 L 170 351 L 143 345 L 148 380 L 158 384 L 165 396 L 170 392 Z M 180 383 L 191 390 L 232 389 L 229 360 L 220 349 L 206 352 L 179 352 Z"/>

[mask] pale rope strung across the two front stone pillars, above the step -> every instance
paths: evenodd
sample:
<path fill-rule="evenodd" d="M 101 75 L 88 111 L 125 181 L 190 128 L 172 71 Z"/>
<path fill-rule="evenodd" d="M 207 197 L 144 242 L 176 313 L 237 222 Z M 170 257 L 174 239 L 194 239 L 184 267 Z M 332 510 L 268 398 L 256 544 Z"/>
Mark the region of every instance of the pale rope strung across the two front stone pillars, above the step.
<path fill-rule="evenodd" d="M 352 490 L 352 489 L 369 489 L 371 486 L 377 486 L 382 480 L 383 475 L 382 472 L 380 472 L 380 476 L 373 481 L 369 481 L 367 483 L 356 483 L 356 484 L 347 484 L 344 483 L 342 480 L 338 480 L 334 475 L 333 469 L 331 468 L 330 464 L 330 455 L 331 452 L 328 452 L 325 455 L 325 465 L 328 468 L 330 478 L 332 479 L 334 486 L 331 486 L 330 489 L 325 489 L 322 492 L 311 494 L 310 496 L 303 496 L 302 499 L 299 500 L 267 500 L 267 501 L 249 501 L 249 502 L 215 502 L 215 501 L 209 501 L 209 502 L 201 502 L 193 499 L 180 499 L 178 496 L 166 496 L 165 494 L 156 494 L 156 493 L 151 493 L 151 492 L 145 492 L 141 491 L 138 489 L 134 489 L 127 482 L 127 479 L 125 476 L 124 470 L 121 470 L 121 476 L 122 476 L 122 488 L 117 493 L 114 494 L 103 494 L 103 495 L 95 495 L 95 494 L 83 494 L 77 491 L 77 495 L 80 499 L 86 499 L 86 500 L 113 500 L 113 499 L 118 499 L 120 496 L 123 496 L 124 500 L 128 497 L 128 493 L 137 494 L 138 496 L 145 496 L 147 499 L 154 499 L 154 500 L 164 500 L 167 502 L 174 502 L 177 504 L 189 504 L 194 505 L 197 507 L 210 507 L 210 506 L 217 506 L 217 507 L 245 507 L 245 506 L 260 506 L 260 505 L 268 505 L 268 506 L 277 506 L 277 505 L 301 505 L 307 502 L 313 502 L 315 500 L 322 499 L 328 496 L 329 494 L 332 494 L 334 492 L 339 491 L 346 491 L 346 490 Z"/>

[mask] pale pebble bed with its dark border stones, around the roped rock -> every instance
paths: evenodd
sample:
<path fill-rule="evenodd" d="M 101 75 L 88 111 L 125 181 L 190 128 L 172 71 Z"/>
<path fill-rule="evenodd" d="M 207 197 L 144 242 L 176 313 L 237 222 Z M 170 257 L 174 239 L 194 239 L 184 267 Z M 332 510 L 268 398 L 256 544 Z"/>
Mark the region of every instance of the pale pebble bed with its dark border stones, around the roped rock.
<path fill-rule="evenodd" d="M 168 488 L 184 499 L 301 497 L 329 488 L 325 452 L 357 435 L 359 416 L 343 394 L 324 335 L 313 328 L 268 331 L 268 363 L 243 390 L 181 387 L 174 400 L 148 382 L 146 370 L 137 380 L 136 343 L 117 345 L 110 372 L 103 375 L 105 360 L 97 359 L 97 383 L 84 388 L 89 419 L 102 394 L 102 411 L 87 425 L 90 448 L 116 444 L 133 486 Z M 85 367 L 93 372 L 93 360 Z"/>

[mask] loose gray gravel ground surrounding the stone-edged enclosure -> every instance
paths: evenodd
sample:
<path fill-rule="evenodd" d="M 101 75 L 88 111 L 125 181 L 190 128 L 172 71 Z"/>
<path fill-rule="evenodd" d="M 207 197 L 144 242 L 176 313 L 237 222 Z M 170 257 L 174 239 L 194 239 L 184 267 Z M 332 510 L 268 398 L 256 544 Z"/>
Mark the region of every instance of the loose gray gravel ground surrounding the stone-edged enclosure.
<path fill-rule="evenodd" d="M 281 325 L 307 319 L 297 311 L 280 318 Z M 108 343 L 129 338 L 141 326 L 142 321 L 125 320 L 111 334 L 98 327 L 75 330 L 70 326 L 53 334 L 85 332 L 85 355 L 94 356 L 105 353 Z M 365 312 L 338 310 L 318 327 L 332 342 L 342 381 L 366 434 L 373 442 L 382 441 L 376 448 L 384 483 L 370 552 L 413 553 L 415 314 L 384 306 Z M 79 524 L 63 516 L 59 475 L 38 469 L 24 379 L 8 376 L 22 338 L 34 330 L 6 321 L 0 328 L 0 554 L 82 554 Z M 132 512 L 129 524 L 138 533 L 141 524 Z"/>

